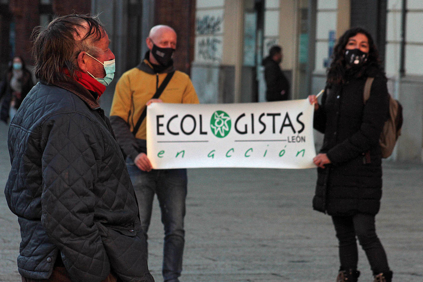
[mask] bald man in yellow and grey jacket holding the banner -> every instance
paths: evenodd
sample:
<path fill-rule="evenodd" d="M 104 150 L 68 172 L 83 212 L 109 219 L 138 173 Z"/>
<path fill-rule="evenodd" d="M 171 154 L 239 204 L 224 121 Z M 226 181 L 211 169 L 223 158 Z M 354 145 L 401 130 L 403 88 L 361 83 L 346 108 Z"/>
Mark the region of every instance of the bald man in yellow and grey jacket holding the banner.
<path fill-rule="evenodd" d="M 116 85 L 110 121 L 127 156 L 126 167 L 137 194 L 146 238 L 154 194 L 157 194 L 165 229 L 162 274 L 165 282 L 177 282 L 182 271 L 185 242 L 187 171 L 152 169 L 147 156 L 144 110 L 152 101 L 198 104 L 198 97 L 187 74 L 175 71 L 173 67 L 175 30 L 167 25 L 157 25 L 151 28 L 146 43 L 149 51 L 144 60 L 126 71 Z M 168 84 L 162 93 L 157 93 L 165 80 Z"/>

